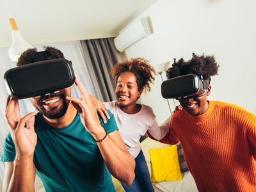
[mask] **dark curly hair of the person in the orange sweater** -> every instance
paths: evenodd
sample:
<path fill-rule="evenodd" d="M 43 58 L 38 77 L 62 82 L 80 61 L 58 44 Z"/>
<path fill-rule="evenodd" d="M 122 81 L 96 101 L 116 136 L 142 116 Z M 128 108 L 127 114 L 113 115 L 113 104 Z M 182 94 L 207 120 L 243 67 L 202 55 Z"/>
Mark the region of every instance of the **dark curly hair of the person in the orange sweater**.
<path fill-rule="evenodd" d="M 189 61 L 184 61 L 183 58 L 177 62 L 174 60 L 172 67 L 166 71 L 166 76 L 171 79 L 186 74 L 196 74 L 203 76 L 203 79 L 209 79 L 210 83 L 211 76 L 218 75 L 219 67 L 220 65 L 216 63 L 214 56 L 205 56 L 204 54 L 198 56 L 193 53 L 192 59 Z"/>

